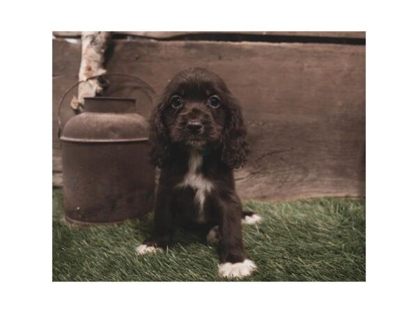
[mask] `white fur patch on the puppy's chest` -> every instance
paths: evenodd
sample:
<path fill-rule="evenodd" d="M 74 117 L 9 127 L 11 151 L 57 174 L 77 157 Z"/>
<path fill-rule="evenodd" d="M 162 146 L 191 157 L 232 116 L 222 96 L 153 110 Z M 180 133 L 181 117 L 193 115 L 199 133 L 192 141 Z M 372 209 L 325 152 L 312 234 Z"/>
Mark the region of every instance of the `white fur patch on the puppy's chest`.
<path fill-rule="evenodd" d="M 203 157 L 199 152 L 192 151 L 189 157 L 189 170 L 183 179 L 183 182 L 178 184 L 178 187 L 191 187 L 194 188 L 196 194 L 194 195 L 194 201 L 199 204 L 199 219 L 203 219 L 203 204 L 205 203 L 206 196 L 212 191 L 213 185 L 208 179 L 201 174 L 201 166 L 203 163 Z"/>

